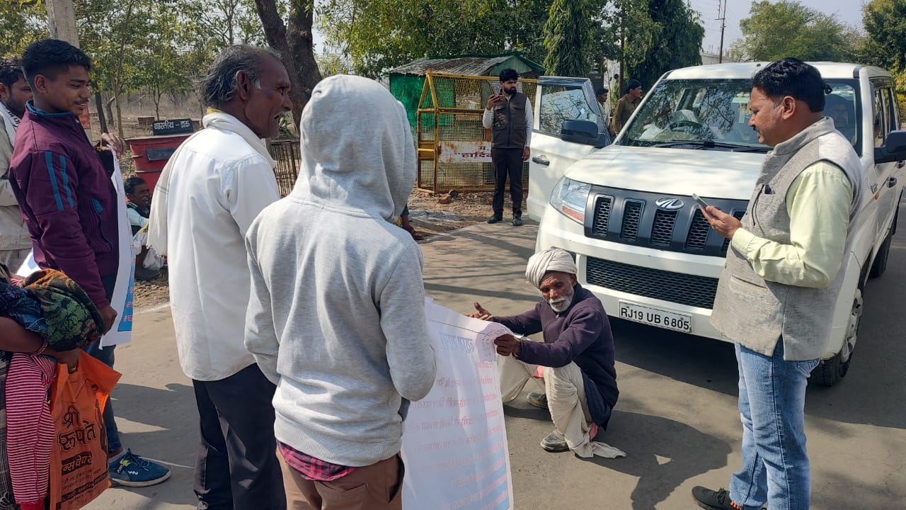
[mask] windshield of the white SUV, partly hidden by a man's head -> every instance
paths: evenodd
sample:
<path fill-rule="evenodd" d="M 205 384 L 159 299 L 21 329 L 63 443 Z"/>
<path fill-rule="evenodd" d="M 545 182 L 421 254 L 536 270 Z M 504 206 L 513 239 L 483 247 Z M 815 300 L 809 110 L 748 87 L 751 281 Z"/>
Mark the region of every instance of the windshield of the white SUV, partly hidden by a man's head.
<path fill-rule="evenodd" d="M 856 91 L 852 81 L 828 80 L 824 115 L 834 119 L 856 149 L 861 143 L 855 123 Z M 665 80 L 651 91 L 626 127 L 620 144 L 639 147 L 678 147 L 714 151 L 767 152 L 748 125 L 750 80 Z"/>

